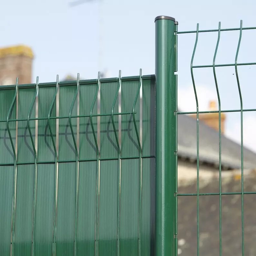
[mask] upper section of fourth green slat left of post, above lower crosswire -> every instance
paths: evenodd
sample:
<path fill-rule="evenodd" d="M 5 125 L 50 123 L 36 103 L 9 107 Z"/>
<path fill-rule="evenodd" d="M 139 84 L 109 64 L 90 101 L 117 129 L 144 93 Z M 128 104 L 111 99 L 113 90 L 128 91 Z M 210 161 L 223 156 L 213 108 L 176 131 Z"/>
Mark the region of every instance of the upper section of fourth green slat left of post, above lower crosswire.
<path fill-rule="evenodd" d="M 90 109 L 93 103 L 96 89 L 97 83 L 80 85 L 79 115 L 90 115 Z M 92 110 L 92 114 L 97 114 L 97 100 Z M 92 121 L 97 135 L 97 117 L 92 117 Z M 79 148 L 80 159 L 97 158 L 90 117 L 79 118 Z"/>

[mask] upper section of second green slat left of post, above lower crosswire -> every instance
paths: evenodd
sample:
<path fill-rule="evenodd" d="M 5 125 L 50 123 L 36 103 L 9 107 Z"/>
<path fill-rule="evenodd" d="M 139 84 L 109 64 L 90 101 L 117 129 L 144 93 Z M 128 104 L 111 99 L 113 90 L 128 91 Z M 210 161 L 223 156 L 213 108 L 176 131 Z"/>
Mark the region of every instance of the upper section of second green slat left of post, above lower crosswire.
<path fill-rule="evenodd" d="M 121 85 L 121 110 L 122 112 L 132 113 L 133 104 L 139 87 L 139 79 L 135 81 L 122 81 Z M 139 128 L 139 99 L 135 106 L 135 120 Z M 139 156 L 139 146 L 134 128 L 132 114 L 122 115 L 121 117 L 121 156 Z"/>

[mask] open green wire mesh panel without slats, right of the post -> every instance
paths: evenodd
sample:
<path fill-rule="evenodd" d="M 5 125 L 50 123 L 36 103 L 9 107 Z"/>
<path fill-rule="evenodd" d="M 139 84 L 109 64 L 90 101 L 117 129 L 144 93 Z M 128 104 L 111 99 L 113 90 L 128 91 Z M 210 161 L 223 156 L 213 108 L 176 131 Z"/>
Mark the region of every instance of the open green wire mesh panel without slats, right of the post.
<path fill-rule="evenodd" d="M 244 191 L 244 146 L 243 146 L 243 112 L 248 112 L 248 111 L 255 111 L 256 109 L 243 109 L 243 99 L 242 99 L 242 93 L 241 93 L 241 84 L 239 80 L 239 72 L 238 72 L 238 66 L 244 66 L 244 65 L 255 65 L 256 62 L 248 62 L 248 63 L 238 63 L 238 55 L 239 55 L 239 50 L 240 50 L 240 44 L 241 44 L 241 39 L 242 39 L 242 31 L 243 30 L 255 30 L 256 27 L 242 27 L 242 20 L 240 23 L 240 28 L 232 28 L 232 29 L 222 29 L 221 28 L 221 23 L 219 22 L 219 28 L 218 29 L 213 29 L 213 30 L 199 30 L 199 24 L 197 24 L 197 28 L 195 31 L 184 31 L 184 32 L 179 32 L 177 31 L 176 34 L 188 34 L 188 33 L 194 33 L 195 34 L 195 43 L 194 43 L 194 51 L 192 53 L 192 58 L 191 58 L 191 65 L 190 65 L 190 71 L 191 71 L 191 78 L 192 78 L 192 83 L 193 83 L 193 88 L 194 88 L 194 97 L 196 100 L 196 111 L 186 111 L 186 112 L 181 112 L 177 111 L 178 109 L 176 108 L 176 115 L 189 115 L 189 114 L 196 114 L 196 169 L 197 169 L 197 179 L 196 179 L 196 193 L 177 193 L 177 196 L 196 196 L 196 229 L 197 229 L 197 255 L 200 254 L 200 210 L 199 210 L 199 201 L 200 201 L 200 196 L 219 196 L 219 255 L 222 255 L 223 253 L 223 246 L 222 246 L 222 241 L 223 241 L 223 235 L 222 235 L 222 227 L 223 227 L 223 222 L 222 222 L 222 216 L 223 216 L 223 204 L 222 204 L 222 198 L 224 195 L 241 195 L 241 223 L 242 223 L 242 232 L 241 232 L 241 254 L 237 255 L 246 255 L 245 254 L 245 242 L 244 242 L 244 195 L 245 194 L 256 194 L 256 191 Z M 234 56 L 234 62 L 233 63 L 223 63 L 223 64 L 215 64 L 215 59 L 216 55 L 218 52 L 218 46 L 220 42 L 220 37 L 221 34 L 224 31 L 239 31 L 239 38 L 238 38 L 238 43 L 237 43 L 237 51 Z M 200 38 L 200 33 L 211 33 L 211 32 L 218 32 L 218 36 L 216 37 L 216 48 L 215 52 L 213 54 L 213 62 L 212 64 L 209 65 L 194 65 L 194 56 L 195 52 L 197 49 L 197 43 Z M 236 81 L 237 81 L 237 88 L 239 91 L 239 98 L 240 98 L 240 109 L 233 109 L 233 110 L 223 110 L 221 108 L 221 100 L 220 100 L 220 94 L 219 94 L 219 87 L 218 87 L 218 78 L 216 76 L 216 67 L 226 67 L 226 66 L 234 66 L 235 68 L 235 75 L 236 75 Z M 197 87 L 196 87 L 196 81 L 194 79 L 194 69 L 198 68 L 213 68 L 213 76 L 214 76 L 214 82 L 215 82 L 215 89 L 217 92 L 217 98 L 218 98 L 218 110 L 213 110 L 213 111 L 199 111 L 199 104 L 198 104 L 198 97 L 197 97 Z M 222 127 L 221 127 L 221 113 L 227 113 L 227 112 L 240 112 L 240 120 L 241 120 L 241 192 L 222 192 L 222 138 L 223 135 L 221 134 Z M 200 162 L 200 156 L 199 156 L 199 138 L 200 138 L 200 114 L 205 114 L 205 113 L 218 113 L 219 115 L 219 192 L 218 193 L 207 193 L 204 190 L 204 193 L 200 193 L 199 190 L 199 162 Z M 178 117 L 179 118 L 179 117 Z M 179 130 L 178 130 L 179 132 Z M 177 143 L 176 146 L 178 147 Z M 178 150 L 178 155 L 179 155 L 179 150 Z M 237 159 L 234 159 L 236 161 Z M 176 187 L 177 189 L 177 187 Z M 181 188 L 182 189 L 182 188 Z M 177 190 L 176 190 L 177 192 Z M 177 211 L 177 203 L 176 203 L 176 211 Z M 179 211 L 182 211 L 180 208 Z M 206 211 L 206 209 L 202 209 L 201 211 Z M 177 214 L 177 213 L 176 213 Z M 232 213 L 230 213 L 232 214 Z M 209 220 L 210 221 L 210 220 Z M 237 241 L 239 242 L 239 241 Z M 249 252 L 249 251 L 247 251 Z M 177 255 L 177 245 L 176 245 L 176 252 Z M 210 254 L 209 254 L 210 255 Z M 226 254 L 225 254 L 226 255 Z"/>

